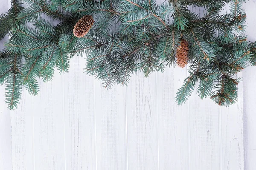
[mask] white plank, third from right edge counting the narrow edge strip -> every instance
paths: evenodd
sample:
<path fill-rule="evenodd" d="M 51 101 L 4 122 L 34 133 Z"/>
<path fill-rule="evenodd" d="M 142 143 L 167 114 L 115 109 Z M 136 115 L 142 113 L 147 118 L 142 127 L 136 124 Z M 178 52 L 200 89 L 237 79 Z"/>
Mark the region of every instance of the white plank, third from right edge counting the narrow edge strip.
<path fill-rule="evenodd" d="M 200 99 L 194 91 L 189 99 L 189 126 L 190 169 L 221 169 L 218 105 Z"/>

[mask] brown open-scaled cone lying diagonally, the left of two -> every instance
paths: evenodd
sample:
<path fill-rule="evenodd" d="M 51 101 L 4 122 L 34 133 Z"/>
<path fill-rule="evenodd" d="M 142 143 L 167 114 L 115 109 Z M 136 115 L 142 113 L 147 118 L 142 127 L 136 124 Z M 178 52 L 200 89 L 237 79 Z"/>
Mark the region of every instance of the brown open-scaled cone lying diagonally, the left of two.
<path fill-rule="evenodd" d="M 74 26 L 73 34 L 74 36 L 80 38 L 84 37 L 93 26 L 93 17 L 90 15 L 84 15 Z"/>

